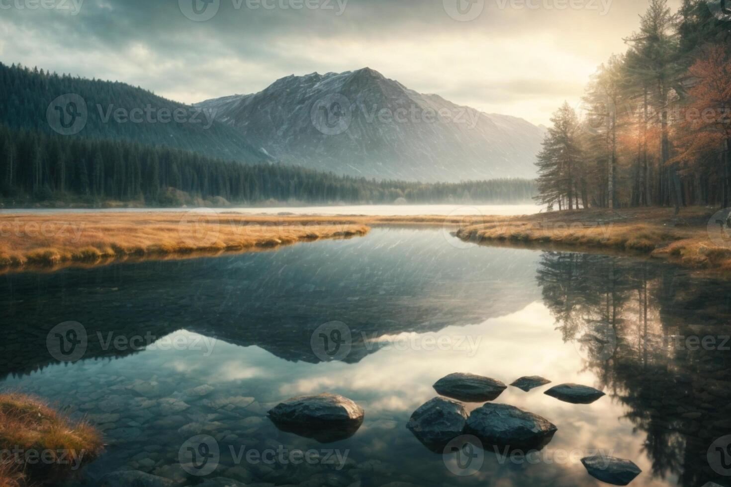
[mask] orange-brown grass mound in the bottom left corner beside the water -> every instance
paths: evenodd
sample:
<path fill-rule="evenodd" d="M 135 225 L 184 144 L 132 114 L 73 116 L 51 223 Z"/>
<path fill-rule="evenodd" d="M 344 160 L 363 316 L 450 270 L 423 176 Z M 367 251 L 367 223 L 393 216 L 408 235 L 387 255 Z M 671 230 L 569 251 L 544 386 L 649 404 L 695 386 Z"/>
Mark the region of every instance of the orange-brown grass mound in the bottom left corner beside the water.
<path fill-rule="evenodd" d="M 99 456 L 101 437 L 38 399 L 0 394 L 0 486 L 56 484 Z"/>

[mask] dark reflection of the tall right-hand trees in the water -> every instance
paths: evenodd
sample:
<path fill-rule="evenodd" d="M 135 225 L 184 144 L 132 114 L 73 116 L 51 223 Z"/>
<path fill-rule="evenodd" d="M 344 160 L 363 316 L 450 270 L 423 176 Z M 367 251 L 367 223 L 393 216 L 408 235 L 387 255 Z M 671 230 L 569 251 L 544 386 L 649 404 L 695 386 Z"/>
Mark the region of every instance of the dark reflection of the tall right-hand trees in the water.
<path fill-rule="evenodd" d="M 537 280 L 564 341 L 646 434 L 652 475 L 726 485 L 706 455 L 731 434 L 731 282 L 577 253 L 545 253 Z"/>

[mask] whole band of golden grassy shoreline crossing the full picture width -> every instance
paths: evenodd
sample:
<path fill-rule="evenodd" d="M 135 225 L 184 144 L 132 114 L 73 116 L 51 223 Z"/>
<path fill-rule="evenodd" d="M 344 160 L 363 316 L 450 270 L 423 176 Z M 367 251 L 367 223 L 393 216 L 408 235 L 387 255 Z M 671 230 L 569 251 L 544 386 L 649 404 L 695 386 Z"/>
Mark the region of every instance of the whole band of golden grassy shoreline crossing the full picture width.
<path fill-rule="evenodd" d="M 709 225 L 718 212 L 692 207 L 678 217 L 670 208 L 521 216 L 249 215 L 205 209 L 11 213 L 0 214 L 0 274 L 273 250 L 363 237 L 374 227 L 442 227 L 478 245 L 659 258 L 730 272 L 731 238 L 721 226 Z"/>

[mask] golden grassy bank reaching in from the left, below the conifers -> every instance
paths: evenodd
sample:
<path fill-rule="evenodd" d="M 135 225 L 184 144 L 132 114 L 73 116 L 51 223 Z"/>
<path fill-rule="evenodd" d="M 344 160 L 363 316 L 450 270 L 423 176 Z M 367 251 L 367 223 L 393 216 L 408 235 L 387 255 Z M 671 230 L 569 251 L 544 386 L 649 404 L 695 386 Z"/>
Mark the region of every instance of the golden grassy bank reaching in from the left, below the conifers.
<path fill-rule="evenodd" d="M 349 218 L 205 210 L 0 215 L 0 269 L 257 250 L 367 232 L 368 226 Z"/>

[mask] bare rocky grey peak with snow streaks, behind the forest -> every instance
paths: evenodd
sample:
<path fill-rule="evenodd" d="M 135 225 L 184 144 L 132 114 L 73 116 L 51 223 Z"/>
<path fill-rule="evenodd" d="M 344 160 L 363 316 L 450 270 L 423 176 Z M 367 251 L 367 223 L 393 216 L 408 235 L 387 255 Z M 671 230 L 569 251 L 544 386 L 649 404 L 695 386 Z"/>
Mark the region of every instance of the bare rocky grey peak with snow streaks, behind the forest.
<path fill-rule="evenodd" d="M 196 104 L 215 110 L 287 164 L 426 182 L 535 177 L 545 127 L 422 94 L 373 69 L 288 76 L 259 93 Z"/>

